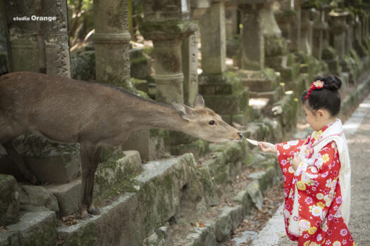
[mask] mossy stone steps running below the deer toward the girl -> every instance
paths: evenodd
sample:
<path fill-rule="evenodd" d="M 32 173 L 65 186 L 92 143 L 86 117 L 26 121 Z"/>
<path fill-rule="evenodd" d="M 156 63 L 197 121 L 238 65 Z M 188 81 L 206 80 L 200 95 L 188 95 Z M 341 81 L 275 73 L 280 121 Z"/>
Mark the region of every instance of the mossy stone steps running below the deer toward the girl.
<path fill-rule="evenodd" d="M 57 211 L 45 205 L 18 214 L 19 222 L 0 233 L 0 245 L 55 245 L 61 240 L 63 245 L 172 245 L 173 238 L 185 245 L 214 245 L 225 240 L 245 214 L 259 207 L 264 190 L 276 181 L 276 161 L 266 156 L 256 160 L 246 141 L 211 144 L 209 148 L 212 154 L 198 161 L 187 153 L 142 164 L 139 153 L 132 150 L 115 162 L 100 164 L 94 202 L 101 205 L 101 214 L 78 219 L 72 226 L 58 218 L 78 212 L 80 180 L 44 185 L 43 192 L 58 200 Z M 261 171 L 251 174 L 248 186 L 235 190 L 228 198 L 232 204 L 221 206 L 247 163 L 262 163 Z M 26 187 L 23 183 L 18 186 L 15 197 Z M 21 193 L 20 200 L 25 200 L 24 196 Z M 214 215 L 205 218 L 214 207 L 218 207 Z M 195 218 L 202 217 L 203 227 L 191 226 Z M 187 229 L 178 235 L 179 225 Z"/>

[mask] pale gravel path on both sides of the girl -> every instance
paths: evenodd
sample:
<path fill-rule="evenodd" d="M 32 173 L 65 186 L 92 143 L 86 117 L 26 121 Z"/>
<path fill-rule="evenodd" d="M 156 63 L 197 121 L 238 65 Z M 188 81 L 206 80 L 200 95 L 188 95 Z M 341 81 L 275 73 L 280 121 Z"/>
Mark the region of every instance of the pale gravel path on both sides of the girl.
<path fill-rule="evenodd" d="M 352 168 L 351 215 L 348 225 L 358 246 L 370 245 L 370 95 L 344 124 Z M 293 246 L 285 235 L 283 206 L 259 233 L 254 246 Z"/>

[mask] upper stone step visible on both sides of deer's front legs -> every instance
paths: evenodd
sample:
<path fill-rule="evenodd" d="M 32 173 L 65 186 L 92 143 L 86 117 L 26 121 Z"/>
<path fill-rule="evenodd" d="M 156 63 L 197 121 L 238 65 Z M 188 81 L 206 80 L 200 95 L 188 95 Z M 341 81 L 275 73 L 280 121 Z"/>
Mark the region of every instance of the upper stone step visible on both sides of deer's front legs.
<path fill-rule="evenodd" d="M 140 155 L 137 151 L 128 150 L 123 153 L 125 157 L 118 158 L 118 160 L 113 158 L 99 164 L 95 173 L 94 199 L 104 199 L 112 193 L 116 193 L 118 187 L 128 176 L 142 168 Z M 78 213 L 80 186 L 81 179 L 75 179 L 69 183 L 53 183 L 44 186 L 58 200 L 58 216 Z"/>

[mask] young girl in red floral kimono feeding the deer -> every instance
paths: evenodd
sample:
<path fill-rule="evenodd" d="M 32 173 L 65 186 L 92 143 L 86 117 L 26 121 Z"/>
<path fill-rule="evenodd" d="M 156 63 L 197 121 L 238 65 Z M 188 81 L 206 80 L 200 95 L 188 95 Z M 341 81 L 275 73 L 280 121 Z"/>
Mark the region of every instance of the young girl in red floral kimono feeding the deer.
<path fill-rule="evenodd" d="M 350 157 L 340 119 L 334 75 L 316 77 L 302 94 L 311 136 L 286 143 L 259 142 L 264 152 L 276 153 L 283 171 L 285 230 L 298 245 L 355 245 L 350 219 Z"/>

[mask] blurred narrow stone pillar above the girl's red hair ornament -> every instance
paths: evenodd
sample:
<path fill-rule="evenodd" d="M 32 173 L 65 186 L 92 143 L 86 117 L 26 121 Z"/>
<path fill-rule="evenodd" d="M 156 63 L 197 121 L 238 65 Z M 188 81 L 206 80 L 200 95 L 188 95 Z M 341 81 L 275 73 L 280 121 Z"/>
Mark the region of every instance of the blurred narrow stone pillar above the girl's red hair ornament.
<path fill-rule="evenodd" d="M 310 8 L 302 8 L 301 10 L 301 36 L 300 36 L 300 50 L 312 54 L 312 26 L 313 22 L 309 20 Z"/>

